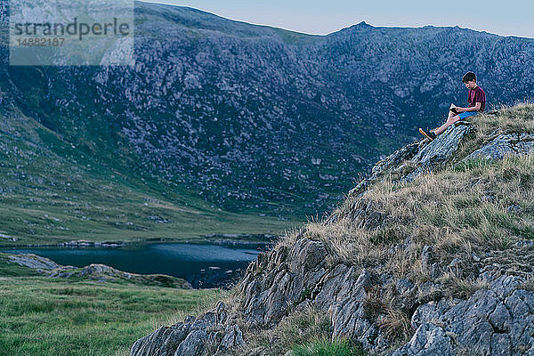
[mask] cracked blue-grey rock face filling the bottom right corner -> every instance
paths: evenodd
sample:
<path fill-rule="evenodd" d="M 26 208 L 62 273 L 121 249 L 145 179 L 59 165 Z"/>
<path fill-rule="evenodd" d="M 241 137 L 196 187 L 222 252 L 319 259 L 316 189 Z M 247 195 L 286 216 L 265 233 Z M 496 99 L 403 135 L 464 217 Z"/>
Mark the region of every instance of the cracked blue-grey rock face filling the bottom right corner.
<path fill-rule="evenodd" d="M 533 354 L 534 293 L 523 289 L 526 280 L 503 271 L 482 272 L 481 280 L 489 289 L 465 301 L 420 305 L 415 335 L 391 356 Z"/>

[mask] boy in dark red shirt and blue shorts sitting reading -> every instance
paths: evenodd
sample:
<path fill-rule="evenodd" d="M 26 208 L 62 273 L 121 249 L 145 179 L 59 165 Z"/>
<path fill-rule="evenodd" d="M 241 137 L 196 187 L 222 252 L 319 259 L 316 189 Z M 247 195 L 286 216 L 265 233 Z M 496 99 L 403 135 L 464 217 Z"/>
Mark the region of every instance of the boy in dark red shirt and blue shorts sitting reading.
<path fill-rule="evenodd" d="M 469 106 L 467 108 L 460 108 L 452 104 L 449 109 L 449 118 L 445 124 L 433 131 L 425 131 L 420 128 L 419 132 L 430 141 L 435 139 L 438 134 L 443 133 L 445 130 L 447 130 L 447 127 L 454 124 L 458 120 L 463 120 L 465 117 L 472 117 L 479 112 L 483 112 L 486 108 L 486 93 L 484 93 L 480 86 L 476 85 L 476 76 L 474 73 L 468 72 L 465 74 L 465 76 L 462 78 L 462 82 L 464 82 L 465 87 L 469 89 L 469 94 L 467 95 Z"/>

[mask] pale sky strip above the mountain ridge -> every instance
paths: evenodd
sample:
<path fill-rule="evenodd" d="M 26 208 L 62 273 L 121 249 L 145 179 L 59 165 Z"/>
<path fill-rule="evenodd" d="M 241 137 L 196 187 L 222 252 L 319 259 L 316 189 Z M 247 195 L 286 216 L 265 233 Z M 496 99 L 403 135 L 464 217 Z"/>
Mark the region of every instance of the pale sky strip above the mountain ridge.
<path fill-rule="evenodd" d="M 534 38 L 532 0 L 143 0 L 190 6 L 231 20 L 326 35 L 361 21 L 373 26 L 459 26 Z"/>

